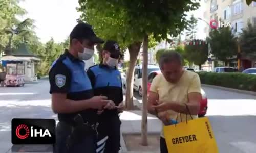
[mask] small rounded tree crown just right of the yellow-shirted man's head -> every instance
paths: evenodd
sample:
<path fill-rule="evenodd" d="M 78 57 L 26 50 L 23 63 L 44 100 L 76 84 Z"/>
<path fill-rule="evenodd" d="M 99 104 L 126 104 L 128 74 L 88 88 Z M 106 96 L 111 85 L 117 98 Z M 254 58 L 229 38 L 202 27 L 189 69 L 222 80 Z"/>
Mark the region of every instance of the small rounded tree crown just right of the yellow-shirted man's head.
<path fill-rule="evenodd" d="M 195 42 L 204 42 L 203 40 L 193 39 Z M 204 64 L 208 57 L 208 45 L 201 43 L 198 45 L 185 45 L 184 58 L 189 62 L 198 65 L 201 70 L 201 65 Z"/>

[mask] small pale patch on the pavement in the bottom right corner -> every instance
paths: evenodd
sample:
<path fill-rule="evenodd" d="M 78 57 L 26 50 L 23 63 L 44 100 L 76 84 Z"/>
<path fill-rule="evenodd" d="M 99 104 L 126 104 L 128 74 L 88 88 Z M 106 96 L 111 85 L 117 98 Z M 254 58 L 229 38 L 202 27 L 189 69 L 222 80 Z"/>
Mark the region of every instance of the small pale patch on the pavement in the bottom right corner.
<path fill-rule="evenodd" d="M 234 147 L 237 147 L 244 153 L 254 153 L 256 150 L 256 143 L 249 141 L 240 141 L 240 142 L 230 142 Z"/>

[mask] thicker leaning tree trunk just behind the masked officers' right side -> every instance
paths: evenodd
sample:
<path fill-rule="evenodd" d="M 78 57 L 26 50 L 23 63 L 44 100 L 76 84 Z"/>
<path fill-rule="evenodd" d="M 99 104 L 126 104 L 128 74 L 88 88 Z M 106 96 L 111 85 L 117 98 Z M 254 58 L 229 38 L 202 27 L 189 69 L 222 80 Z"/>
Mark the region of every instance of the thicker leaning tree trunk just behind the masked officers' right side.
<path fill-rule="evenodd" d="M 134 67 L 140 52 L 141 42 L 135 42 L 128 46 L 130 54 L 130 61 L 126 76 L 126 94 L 125 94 L 125 107 L 127 110 L 133 109 L 133 82 L 134 82 Z"/>

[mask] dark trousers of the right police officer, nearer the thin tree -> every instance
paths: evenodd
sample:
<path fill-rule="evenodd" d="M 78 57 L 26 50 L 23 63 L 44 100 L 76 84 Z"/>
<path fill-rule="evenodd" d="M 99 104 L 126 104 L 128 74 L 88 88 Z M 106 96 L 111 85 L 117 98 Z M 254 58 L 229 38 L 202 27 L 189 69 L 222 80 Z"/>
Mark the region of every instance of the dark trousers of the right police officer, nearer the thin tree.
<path fill-rule="evenodd" d="M 99 137 L 108 136 L 105 142 L 104 153 L 118 153 L 120 149 L 120 127 L 121 121 L 118 114 L 100 119 Z"/>

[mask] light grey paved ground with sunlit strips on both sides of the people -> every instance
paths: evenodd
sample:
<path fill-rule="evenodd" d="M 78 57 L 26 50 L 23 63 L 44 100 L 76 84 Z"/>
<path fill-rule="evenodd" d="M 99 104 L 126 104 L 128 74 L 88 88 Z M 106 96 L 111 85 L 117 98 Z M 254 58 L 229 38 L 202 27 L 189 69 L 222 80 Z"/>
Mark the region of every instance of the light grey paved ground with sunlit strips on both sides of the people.
<path fill-rule="evenodd" d="M 208 113 L 220 152 L 253 153 L 256 150 L 256 96 L 203 87 Z M 141 98 L 135 93 L 135 97 Z M 0 152 L 11 148 L 12 118 L 54 118 L 49 81 L 24 87 L 0 87 Z"/>

